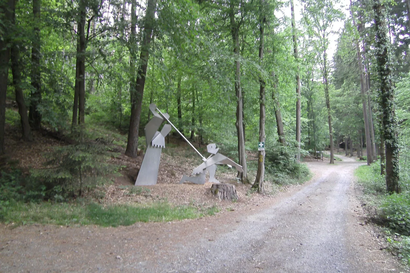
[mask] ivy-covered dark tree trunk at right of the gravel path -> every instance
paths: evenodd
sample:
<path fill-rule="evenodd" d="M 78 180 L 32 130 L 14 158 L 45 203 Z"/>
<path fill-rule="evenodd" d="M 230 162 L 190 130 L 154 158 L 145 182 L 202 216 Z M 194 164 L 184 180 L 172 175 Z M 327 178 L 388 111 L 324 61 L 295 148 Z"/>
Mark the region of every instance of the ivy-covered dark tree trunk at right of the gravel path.
<path fill-rule="evenodd" d="M 382 114 L 382 134 L 386 155 L 386 189 L 388 193 L 399 193 L 399 141 L 397 137 L 397 121 L 394 112 L 394 90 L 390 79 L 389 53 L 385 26 L 385 16 L 380 0 L 374 0 L 374 26 L 376 30 L 376 60 Z"/>

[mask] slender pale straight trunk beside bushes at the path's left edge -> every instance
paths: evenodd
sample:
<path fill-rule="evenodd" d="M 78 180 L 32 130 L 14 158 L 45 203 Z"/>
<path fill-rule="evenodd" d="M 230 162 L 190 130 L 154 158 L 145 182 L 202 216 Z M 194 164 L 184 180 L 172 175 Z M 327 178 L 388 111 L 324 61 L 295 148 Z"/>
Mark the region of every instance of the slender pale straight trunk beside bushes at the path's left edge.
<path fill-rule="evenodd" d="M 293 55 L 296 63 L 298 63 L 298 40 L 296 36 L 296 23 L 295 23 L 295 11 L 293 0 L 290 0 L 290 11 L 292 15 L 292 39 L 293 39 Z M 297 160 L 300 160 L 301 154 L 301 79 L 299 76 L 299 64 L 296 69 L 296 142 L 298 146 Z M 332 143 L 333 146 L 333 143 Z"/>

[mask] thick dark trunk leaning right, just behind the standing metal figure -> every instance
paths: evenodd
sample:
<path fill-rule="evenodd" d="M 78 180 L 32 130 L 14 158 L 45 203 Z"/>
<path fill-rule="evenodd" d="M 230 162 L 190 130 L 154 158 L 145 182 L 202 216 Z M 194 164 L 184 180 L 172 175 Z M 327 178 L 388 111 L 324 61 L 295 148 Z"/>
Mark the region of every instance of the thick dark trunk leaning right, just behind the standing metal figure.
<path fill-rule="evenodd" d="M 134 5 L 135 2 L 136 1 L 132 4 Z M 156 9 L 157 0 L 148 0 L 144 18 L 144 30 L 142 31 L 141 52 L 139 55 L 137 79 L 135 80 L 135 90 L 130 90 L 134 94 L 132 95 L 133 100 L 131 101 L 130 127 L 128 129 L 128 141 L 125 150 L 125 155 L 129 157 L 137 157 L 139 121 L 141 118 L 142 98 L 144 96 L 145 77 L 148 67 L 150 43 L 153 38 Z"/>

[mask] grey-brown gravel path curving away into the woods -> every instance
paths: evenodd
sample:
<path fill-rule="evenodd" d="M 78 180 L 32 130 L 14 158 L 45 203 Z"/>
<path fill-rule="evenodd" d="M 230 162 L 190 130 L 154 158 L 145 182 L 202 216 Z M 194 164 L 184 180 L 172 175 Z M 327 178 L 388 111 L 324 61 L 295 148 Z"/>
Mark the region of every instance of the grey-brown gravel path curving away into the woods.
<path fill-rule="evenodd" d="M 264 205 L 131 227 L 0 227 L 0 272 L 401 272 L 363 223 L 353 171 L 315 177 Z"/>

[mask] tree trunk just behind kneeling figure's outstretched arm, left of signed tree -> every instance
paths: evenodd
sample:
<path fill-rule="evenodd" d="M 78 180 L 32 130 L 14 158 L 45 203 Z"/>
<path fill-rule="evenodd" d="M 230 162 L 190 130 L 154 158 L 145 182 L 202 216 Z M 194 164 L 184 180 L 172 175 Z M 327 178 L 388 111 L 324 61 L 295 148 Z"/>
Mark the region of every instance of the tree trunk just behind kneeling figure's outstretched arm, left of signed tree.
<path fill-rule="evenodd" d="M 244 170 L 243 173 L 238 172 L 238 177 L 241 178 L 243 183 L 248 183 L 248 169 L 246 167 L 246 154 L 245 154 L 245 139 L 244 139 L 244 124 L 243 124 L 243 105 L 242 105 L 242 91 L 241 91 L 241 62 L 240 62 L 240 47 L 239 47 L 239 25 L 235 22 L 234 7 L 231 3 L 230 8 L 230 27 L 233 41 L 233 52 L 235 55 L 235 93 L 237 97 L 236 105 L 236 130 L 238 137 L 238 161 L 239 165 Z"/>

